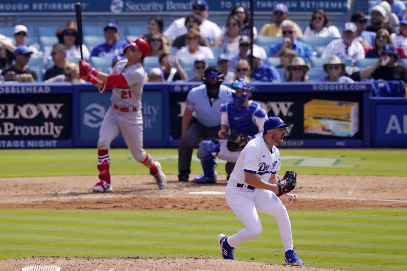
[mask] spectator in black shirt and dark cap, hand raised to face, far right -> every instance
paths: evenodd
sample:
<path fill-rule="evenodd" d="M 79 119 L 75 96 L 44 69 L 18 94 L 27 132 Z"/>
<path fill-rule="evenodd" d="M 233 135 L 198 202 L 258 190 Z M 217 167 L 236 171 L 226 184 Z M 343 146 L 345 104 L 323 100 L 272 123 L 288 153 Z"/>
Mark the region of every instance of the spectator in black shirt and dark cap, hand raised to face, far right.
<path fill-rule="evenodd" d="M 376 63 L 366 67 L 360 73 L 361 80 L 373 78 L 407 82 L 407 68 L 398 62 L 398 59 L 396 48 L 391 44 L 386 44 Z"/>

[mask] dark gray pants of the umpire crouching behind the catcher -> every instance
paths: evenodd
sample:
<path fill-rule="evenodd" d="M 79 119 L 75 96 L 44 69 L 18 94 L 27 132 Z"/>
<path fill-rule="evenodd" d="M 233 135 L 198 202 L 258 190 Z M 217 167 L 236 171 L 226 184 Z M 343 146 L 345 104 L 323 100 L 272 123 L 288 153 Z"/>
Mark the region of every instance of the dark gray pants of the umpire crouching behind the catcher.
<path fill-rule="evenodd" d="M 180 173 L 189 174 L 191 172 L 192 151 L 203 139 L 218 138 L 219 130 L 220 125 L 205 127 L 196 120 L 189 125 L 178 144 L 178 171 Z"/>

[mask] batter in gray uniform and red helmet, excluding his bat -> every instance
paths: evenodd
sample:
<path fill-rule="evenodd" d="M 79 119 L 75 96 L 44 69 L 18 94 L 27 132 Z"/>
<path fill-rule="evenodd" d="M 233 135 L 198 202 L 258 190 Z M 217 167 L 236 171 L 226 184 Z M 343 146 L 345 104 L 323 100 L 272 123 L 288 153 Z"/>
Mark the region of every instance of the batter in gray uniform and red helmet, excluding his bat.
<path fill-rule="evenodd" d="M 141 96 L 144 81 L 144 69 L 141 65 L 144 57 L 150 53 L 150 45 L 141 38 L 127 41 L 124 54 L 127 60 L 116 63 L 110 75 L 97 71 L 85 60 L 79 60 L 80 76 L 104 93 L 113 87 L 108 112 L 99 130 L 97 141 L 99 180 L 94 192 L 111 192 L 110 181 L 110 143 L 121 132 L 134 159 L 150 169 L 160 189 L 167 179 L 161 165 L 155 162 L 143 149 L 143 117 L 141 115 Z"/>

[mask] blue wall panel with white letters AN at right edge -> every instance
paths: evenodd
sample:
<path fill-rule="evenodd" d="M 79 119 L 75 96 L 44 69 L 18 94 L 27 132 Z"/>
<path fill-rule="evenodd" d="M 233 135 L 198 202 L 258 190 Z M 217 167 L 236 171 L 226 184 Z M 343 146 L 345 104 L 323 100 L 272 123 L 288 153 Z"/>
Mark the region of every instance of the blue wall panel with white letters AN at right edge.
<path fill-rule="evenodd" d="M 407 147 L 407 99 L 376 100 L 372 110 L 373 146 Z M 375 118 L 376 116 L 376 118 Z"/>

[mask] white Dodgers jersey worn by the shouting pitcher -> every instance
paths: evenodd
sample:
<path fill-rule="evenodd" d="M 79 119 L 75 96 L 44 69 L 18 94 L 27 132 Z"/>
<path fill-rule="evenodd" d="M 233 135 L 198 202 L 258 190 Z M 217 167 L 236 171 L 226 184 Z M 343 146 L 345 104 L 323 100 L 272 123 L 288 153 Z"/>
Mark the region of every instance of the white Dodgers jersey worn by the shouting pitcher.
<path fill-rule="evenodd" d="M 250 140 L 240 152 L 229 181 L 246 183 L 245 171 L 257 174 L 263 181 L 268 181 L 280 167 L 280 152 L 277 147 L 274 146 L 269 151 L 263 136 L 259 136 Z"/>

